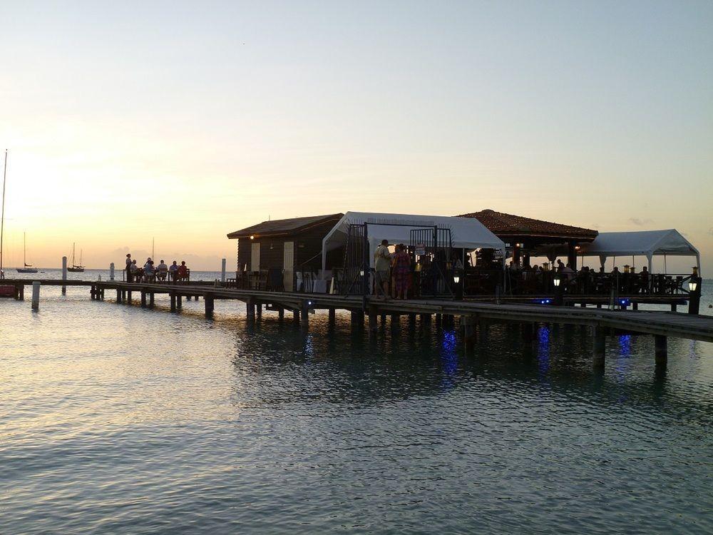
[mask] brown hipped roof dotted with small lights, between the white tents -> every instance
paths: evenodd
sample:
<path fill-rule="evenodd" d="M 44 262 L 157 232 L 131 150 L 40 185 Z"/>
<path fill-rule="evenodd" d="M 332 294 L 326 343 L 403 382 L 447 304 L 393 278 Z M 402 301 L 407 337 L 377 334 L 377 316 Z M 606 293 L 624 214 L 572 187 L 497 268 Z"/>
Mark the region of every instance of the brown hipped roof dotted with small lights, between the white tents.
<path fill-rule="evenodd" d="M 466 213 L 458 215 L 458 217 L 476 218 L 500 238 L 547 238 L 582 242 L 591 241 L 597 237 L 597 231 L 589 228 L 551 223 L 550 221 L 525 218 L 522 215 L 512 215 L 490 209 Z"/>

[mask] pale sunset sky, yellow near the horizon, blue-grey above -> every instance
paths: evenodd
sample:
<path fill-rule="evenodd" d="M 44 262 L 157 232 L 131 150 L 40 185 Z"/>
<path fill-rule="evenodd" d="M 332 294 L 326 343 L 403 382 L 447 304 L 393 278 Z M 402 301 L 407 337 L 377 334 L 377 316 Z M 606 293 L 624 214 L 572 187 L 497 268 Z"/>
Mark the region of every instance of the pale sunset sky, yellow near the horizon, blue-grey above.
<path fill-rule="evenodd" d="M 6 267 L 235 266 L 267 218 L 483 208 L 713 258 L 713 3 L 13 2 Z M 693 265 L 682 260 L 686 269 Z M 706 269 L 709 267 L 709 269 Z"/>

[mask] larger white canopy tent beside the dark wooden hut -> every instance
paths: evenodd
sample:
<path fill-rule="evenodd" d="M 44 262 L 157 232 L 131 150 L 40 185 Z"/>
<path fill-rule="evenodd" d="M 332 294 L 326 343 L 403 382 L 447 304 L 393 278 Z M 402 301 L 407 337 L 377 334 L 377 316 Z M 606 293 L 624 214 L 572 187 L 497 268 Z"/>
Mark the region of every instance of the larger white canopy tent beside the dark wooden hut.
<path fill-rule="evenodd" d="M 427 227 L 451 229 L 454 248 L 466 250 L 496 249 L 505 256 L 505 243 L 474 218 L 453 218 L 446 215 L 411 215 L 396 213 L 347 212 L 322 240 L 322 269 L 327 267 L 327 252 L 347 243 L 349 225 L 366 223 L 369 238 L 369 258 L 374 263 L 374 250 L 381 240 L 389 243 L 409 243 L 411 230 Z"/>

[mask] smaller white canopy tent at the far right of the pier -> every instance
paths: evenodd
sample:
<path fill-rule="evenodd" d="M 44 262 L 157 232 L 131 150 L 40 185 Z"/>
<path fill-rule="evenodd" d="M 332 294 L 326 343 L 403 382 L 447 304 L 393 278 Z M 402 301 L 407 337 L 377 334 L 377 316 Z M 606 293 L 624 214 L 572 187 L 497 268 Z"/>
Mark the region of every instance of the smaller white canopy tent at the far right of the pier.
<path fill-rule="evenodd" d="M 592 243 L 583 243 L 583 256 L 598 256 L 602 265 L 610 256 L 642 255 L 649 260 L 652 270 L 654 255 L 694 256 L 701 270 L 701 255 L 678 230 L 640 230 L 637 232 L 599 233 Z"/>

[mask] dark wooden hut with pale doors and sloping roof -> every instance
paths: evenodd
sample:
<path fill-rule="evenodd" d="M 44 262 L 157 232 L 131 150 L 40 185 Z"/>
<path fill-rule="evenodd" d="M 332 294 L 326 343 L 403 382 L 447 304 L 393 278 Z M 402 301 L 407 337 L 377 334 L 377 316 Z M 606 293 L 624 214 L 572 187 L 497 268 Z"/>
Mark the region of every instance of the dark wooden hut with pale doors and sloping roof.
<path fill-rule="evenodd" d="M 322 267 L 322 239 L 342 215 L 263 221 L 235 230 L 227 237 L 238 241 L 238 271 L 271 272 L 273 277 L 282 272 L 284 290 L 294 290 L 295 272 L 316 273 Z M 330 265 L 341 265 L 340 255 L 341 251 L 335 251 Z"/>

